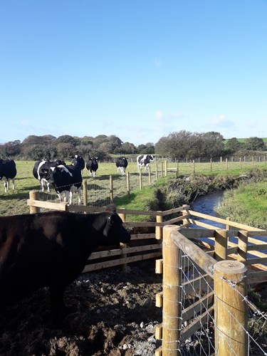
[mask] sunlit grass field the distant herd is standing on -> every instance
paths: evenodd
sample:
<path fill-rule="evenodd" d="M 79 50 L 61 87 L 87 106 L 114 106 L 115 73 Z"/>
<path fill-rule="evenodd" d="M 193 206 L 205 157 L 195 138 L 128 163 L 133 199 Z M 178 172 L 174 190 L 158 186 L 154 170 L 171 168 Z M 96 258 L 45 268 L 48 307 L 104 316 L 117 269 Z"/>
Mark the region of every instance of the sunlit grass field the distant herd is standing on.
<path fill-rule="evenodd" d="M 3 182 L 1 182 L 1 200 L 0 215 L 26 214 L 29 209 L 26 204 L 28 194 L 31 190 L 40 191 L 38 180 L 33 177 L 32 169 L 35 162 L 33 161 L 16 161 L 17 175 L 15 180 L 15 190 L 9 189 L 4 192 Z M 69 163 L 69 162 L 67 162 Z M 232 174 L 238 175 L 252 168 L 266 169 L 266 162 L 204 162 L 204 163 L 175 163 L 168 162 L 167 175 L 176 177 L 190 174 Z M 150 164 L 150 177 L 148 173 L 142 172 L 142 187 L 147 187 L 150 182 L 153 184 L 159 178 L 165 177 L 165 162 L 152 162 Z M 177 172 L 178 169 L 178 172 Z M 137 172 L 136 162 L 129 162 L 127 167 L 130 177 L 130 193 L 138 194 L 140 192 L 140 174 Z M 112 175 L 113 197 L 123 197 L 127 195 L 127 178 L 117 173 L 117 167 L 114 162 L 101 163 L 97 172 L 97 177 L 89 177 L 87 169 L 83 170 L 83 180 L 88 184 L 88 204 L 93 206 L 106 206 L 110 203 L 110 175 Z M 163 183 L 162 183 L 163 184 Z M 11 187 L 10 187 L 11 188 Z M 76 196 L 77 194 L 75 194 Z M 51 188 L 50 193 L 40 194 L 42 200 L 58 201 L 56 192 Z M 140 206 L 136 209 L 145 209 L 140 199 Z M 77 204 L 77 198 L 74 198 Z M 132 209 L 134 207 L 132 206 Z"/>

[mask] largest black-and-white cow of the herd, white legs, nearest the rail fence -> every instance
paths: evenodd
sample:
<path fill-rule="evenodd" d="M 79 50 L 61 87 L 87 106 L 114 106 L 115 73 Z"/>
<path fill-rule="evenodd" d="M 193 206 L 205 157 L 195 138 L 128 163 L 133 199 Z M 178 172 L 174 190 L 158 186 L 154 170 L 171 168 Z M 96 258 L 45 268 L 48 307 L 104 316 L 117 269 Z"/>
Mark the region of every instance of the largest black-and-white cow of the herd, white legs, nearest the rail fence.
<path fill-rule="evenodd" d="M 78 192 L 78 204 L 81 204 L 80 190 L 83 184 L 83 164 L 83 159 L 77 156 L 76 159 L 73 159 L 72 164 L 59 164 L 48 170 L 47 177 L 51 180 L 51 184 L 55 188 L 60 201 L 73 204 L 73 194 Z"/>

